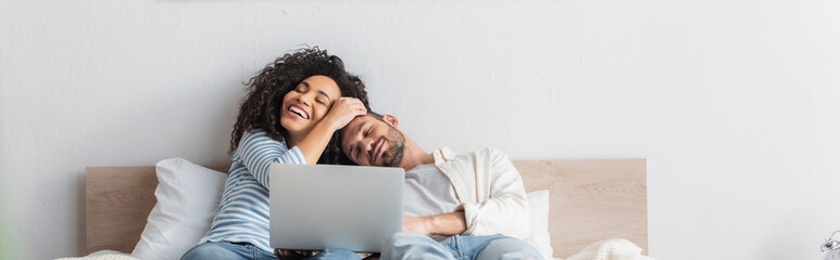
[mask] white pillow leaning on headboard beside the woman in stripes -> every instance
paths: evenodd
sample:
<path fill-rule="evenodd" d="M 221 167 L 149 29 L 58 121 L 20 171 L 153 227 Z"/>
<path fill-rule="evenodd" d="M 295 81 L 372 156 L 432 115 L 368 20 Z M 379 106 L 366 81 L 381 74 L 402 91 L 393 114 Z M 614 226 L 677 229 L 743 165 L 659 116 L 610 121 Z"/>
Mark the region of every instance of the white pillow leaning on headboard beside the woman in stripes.
<path fill-rule="evenodd" d="M 158 204 L 131 252 L 143 260 L 176 260 L 210 229 L 227 174 L 184 158 L 158 162 Z"/>

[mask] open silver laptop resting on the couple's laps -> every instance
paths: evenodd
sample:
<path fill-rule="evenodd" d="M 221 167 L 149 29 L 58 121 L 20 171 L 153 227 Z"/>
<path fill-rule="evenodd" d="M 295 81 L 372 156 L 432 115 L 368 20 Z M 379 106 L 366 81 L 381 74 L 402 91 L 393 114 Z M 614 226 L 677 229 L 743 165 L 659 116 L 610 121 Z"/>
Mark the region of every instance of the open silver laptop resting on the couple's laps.
<path fill-rule="evenodd" d="M 402 168 L 272 164 L 268 172 L 274 248 L 378 252 L 402 230 Z"/>

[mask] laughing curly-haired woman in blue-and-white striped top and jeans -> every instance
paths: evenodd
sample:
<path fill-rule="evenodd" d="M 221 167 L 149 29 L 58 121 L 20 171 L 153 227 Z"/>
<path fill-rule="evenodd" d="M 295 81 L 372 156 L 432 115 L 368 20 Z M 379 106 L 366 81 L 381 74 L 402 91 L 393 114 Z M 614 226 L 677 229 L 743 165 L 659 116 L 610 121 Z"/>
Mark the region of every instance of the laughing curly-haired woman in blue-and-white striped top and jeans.
<path fill-rule="evenodd" d="M 333 136 L 365 113 L 364 83 L 326 51 L 303 49 L 263 68 L 249 82 L 230 134 L 233 165 L 216 216 L 181 259 L 278 259 L 268 245 L 268 165 L 335 161 L 341 152 Z M 306 256 L 359 258 L 346 250 Z"/>

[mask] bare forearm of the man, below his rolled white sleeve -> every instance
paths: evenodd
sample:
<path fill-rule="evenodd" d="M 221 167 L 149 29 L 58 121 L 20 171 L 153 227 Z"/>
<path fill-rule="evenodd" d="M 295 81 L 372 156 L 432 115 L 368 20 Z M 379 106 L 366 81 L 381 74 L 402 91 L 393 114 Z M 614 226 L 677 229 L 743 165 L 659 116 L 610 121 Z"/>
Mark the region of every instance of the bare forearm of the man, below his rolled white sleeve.
<path fill-rule="evenodd" d="M 423 235 L 457 235 L 466 231 L 466 219 L 463 211 L 423 217 L 403 217 L 402 231 Z"/>

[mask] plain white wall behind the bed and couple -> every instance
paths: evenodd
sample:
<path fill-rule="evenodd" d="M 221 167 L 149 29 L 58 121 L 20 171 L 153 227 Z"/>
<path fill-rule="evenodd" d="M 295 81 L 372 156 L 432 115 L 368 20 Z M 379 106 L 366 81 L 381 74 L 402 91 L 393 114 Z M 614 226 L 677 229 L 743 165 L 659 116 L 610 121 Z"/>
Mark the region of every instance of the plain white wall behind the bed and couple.
<path fill-rule="evenodd" d="M 7 256 L 83 251 L 86 166 L 227 161 L 240 82 L 301 43 L 428 150 L 648 158 L 654 258 L 840 229 L 837 1 L 0 1 Z"/>

